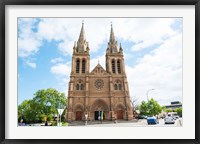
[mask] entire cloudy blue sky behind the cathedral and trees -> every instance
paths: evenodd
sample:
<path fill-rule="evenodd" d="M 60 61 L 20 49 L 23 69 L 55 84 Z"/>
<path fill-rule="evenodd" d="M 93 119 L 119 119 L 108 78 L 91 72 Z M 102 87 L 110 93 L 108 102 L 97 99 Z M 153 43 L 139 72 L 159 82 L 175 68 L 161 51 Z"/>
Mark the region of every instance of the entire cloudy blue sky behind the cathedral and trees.
<path fill-rule="evenodd" d="M 130 96 L 182 102 L 182 18 L 18 18 L 18 104 L 40 89 L 68 91 L 71 56 L 82 21 L 90 71 L 105 52 L 112 22 L 122 44 Z"/>

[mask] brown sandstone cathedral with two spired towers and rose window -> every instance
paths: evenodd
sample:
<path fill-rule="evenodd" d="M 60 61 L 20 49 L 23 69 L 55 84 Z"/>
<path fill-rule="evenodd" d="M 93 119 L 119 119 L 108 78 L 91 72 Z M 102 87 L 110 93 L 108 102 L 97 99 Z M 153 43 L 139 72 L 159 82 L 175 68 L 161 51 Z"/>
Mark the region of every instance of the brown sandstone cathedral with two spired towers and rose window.
<path fill-rule="evenodd" d="M 98 63 L 90 71 L 90 47 L 82 23 L 73 47 L 66 121 L 93 121 L 100 116 L 101 120 L 133 119 L 123 49 L 121 44 L 118 47 L 112 24 L 105 52 L 106 69 Z"/>

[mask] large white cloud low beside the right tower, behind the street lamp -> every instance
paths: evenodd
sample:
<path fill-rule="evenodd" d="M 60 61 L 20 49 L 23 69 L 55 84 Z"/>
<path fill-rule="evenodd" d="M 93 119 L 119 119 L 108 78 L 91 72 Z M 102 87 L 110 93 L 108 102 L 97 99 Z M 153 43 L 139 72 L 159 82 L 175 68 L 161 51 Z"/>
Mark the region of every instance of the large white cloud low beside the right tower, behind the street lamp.
<path fill-rule="evenodd" d="M 166 40 L 159 48 L 140 59 L 136 66 L 126 65 L 131 96 L 138 101 L 154 98 L 161 104 L 182 101 L 182 35 Z"/>

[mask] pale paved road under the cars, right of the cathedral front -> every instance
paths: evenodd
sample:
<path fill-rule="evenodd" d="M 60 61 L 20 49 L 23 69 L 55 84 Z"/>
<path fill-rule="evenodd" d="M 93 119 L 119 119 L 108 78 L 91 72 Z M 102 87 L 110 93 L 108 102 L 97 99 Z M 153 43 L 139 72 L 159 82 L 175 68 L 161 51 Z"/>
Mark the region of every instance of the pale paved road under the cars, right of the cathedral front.
<path fill-rule="evenodd" d="M 156 125 L 148 125 L 146 119 L 139 120 L 138 122 L 132 123 L 116 123 L 116 124 L 96 124 L 96 125 L 87 125 L 87 127 L 180 127 L 182 126 L 182 119 L 176 120 L 175 124 L 165 124 L 164 119 L 159 120 L 159 124 Z"/>

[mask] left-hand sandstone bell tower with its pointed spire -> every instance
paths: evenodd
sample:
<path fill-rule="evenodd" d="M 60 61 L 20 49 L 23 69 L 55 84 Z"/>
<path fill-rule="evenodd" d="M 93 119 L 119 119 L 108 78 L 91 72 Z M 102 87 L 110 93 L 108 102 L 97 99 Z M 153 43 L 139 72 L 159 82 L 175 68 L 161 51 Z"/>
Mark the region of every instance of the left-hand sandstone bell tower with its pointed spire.
<path fill-rule="evenodd" d="M 67 119 L 72 121 L 76 115 L 73 112 L 74 103 L 77 97 L 82 101 L 82 112 L 79 113 L 82 119 L 83 111 L 88 105 L 88 75 L 90 71 L 90 54 L 89 54 L 89 43 L 86 41 L 84 22 L 82 22 L 81 32 L 78 38 L 78 41 L 74 42 L 73 54 L 72 54 L 72 65 L 71 65 L 71 74 L 70 81 L 68 86 L 68 111 Z"/>

